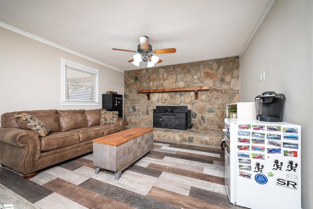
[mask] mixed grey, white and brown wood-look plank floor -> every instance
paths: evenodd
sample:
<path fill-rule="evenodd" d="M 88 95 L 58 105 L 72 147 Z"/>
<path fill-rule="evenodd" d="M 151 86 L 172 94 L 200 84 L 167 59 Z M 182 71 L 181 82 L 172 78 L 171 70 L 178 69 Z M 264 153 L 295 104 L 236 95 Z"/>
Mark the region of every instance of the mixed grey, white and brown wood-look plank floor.
<path fill-rule="evenodd" d="M 228 201 L 220 148 L 161 140 L 119 180 L 103 169 L 95 174 L 92 153 L 28 180 L 0 166 L 0 204 L 15 209 L 242 209 Z"/>

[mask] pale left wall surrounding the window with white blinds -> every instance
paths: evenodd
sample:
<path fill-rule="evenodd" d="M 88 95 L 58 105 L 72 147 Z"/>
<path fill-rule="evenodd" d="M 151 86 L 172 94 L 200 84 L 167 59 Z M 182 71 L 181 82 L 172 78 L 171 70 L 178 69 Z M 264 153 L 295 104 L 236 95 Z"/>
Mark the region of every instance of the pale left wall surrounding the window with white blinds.
<path fill-rule="evenodd" d="M 102 94 L 124 94 L 124 73 L 0 27 L 0 115 L 23 110 L 102 108 Z M 99 70 L 99 106 L 61 106 L 61 58 Z"/>

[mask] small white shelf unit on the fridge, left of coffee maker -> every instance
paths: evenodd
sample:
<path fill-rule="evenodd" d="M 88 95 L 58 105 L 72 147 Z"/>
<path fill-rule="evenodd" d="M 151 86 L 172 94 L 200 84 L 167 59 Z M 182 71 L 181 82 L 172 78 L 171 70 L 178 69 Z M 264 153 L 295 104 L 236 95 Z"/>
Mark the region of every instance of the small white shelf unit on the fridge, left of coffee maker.
<path fill-rule="evenodd" d="M 226 104 L 226 118 L 228 118 L 229 108 L 237 109 L 237 119 L 256 119 L 255 102 L 235 102 Z"/>

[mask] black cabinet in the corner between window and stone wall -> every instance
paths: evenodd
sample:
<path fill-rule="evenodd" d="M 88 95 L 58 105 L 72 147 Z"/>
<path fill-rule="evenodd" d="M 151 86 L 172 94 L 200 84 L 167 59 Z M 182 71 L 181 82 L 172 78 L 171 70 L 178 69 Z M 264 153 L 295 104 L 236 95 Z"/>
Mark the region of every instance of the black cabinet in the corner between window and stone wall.
<path fill-rule="evenodd" d="M 118 111 L 118 117 L 123 117 L 123 96 L 115 93 L 102 94 L 102 108 Z"/>

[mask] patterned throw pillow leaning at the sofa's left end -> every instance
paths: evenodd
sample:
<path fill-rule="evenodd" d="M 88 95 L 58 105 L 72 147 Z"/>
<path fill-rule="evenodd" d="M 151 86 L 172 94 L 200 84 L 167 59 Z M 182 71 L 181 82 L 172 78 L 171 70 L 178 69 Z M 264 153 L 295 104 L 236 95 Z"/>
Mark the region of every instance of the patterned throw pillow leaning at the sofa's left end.
<path fill-rule="evenodd" d="M 50 133 L 50 128 L 45 125 L 43 121 L 32 115 L 21 113 L 20 115 L 15 115 L 14 117 L 22 129 L 33 131 L 40 137 L 45 137 Z"/>

